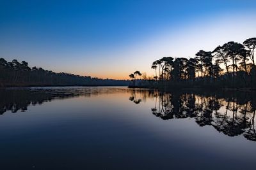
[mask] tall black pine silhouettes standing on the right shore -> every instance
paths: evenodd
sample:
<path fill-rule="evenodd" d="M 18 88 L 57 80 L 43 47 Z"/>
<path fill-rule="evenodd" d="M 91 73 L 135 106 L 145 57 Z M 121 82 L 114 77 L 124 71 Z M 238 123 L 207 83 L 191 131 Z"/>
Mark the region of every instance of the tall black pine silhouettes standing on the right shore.
<path fill-rule="evenodd" d="M 243 44 L 230 41 L 212 52 L 200 50 L 195 57 L 163 57 L 152 63 L 154 87 L 256 87 L 256 38 Z M 136 80 L 134 74 L 129 75 Z M 143 85 L 145 86 L 145 85 Z"/>

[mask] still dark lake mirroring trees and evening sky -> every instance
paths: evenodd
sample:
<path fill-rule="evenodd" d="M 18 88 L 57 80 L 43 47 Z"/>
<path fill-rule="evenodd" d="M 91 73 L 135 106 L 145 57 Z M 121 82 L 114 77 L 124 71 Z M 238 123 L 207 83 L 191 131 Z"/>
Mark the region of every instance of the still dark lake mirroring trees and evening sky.
<path fill-rule="evenodd" d="M 256 96 L 0 90 L 1 169 L 255 169 Z"/>

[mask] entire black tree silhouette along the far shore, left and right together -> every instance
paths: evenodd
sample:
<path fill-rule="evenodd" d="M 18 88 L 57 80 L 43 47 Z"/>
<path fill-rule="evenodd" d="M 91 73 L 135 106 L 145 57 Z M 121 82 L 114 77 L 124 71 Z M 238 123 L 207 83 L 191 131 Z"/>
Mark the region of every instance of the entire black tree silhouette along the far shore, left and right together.
<path fill-rule="evenodd" d="M 129 85 L 156 89 L 246 88 L 256 87 L 256 38 L 243 44 L 230 41 L 212 52 L 200 50 L 193 58 L 163 57 L 152 63 L 154 78 L 141 79 L 140 71 L 131 73 L 132 81 L 92 78 L 69 73 L 54 73 L 28 62 L 0 59 L 0 87 Z"/>

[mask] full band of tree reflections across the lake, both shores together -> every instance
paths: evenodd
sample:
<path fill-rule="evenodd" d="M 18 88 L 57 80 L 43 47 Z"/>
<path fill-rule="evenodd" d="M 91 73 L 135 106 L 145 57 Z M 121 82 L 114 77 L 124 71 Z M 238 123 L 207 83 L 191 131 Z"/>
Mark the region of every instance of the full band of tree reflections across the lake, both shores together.
<path fill-rule="evenodd" d="M 162 120 L 193 118 L 200 127 L 210 125 L 227 136 L 256 141 L 255 93 L 246 92 L 158 92 L 126 88 L 32 88 L 0 90 L 0 114 L 26 111 L 29 106 L 53 99 L 129 93 L 134 104 L 154 100 L 152 114 Z"/>

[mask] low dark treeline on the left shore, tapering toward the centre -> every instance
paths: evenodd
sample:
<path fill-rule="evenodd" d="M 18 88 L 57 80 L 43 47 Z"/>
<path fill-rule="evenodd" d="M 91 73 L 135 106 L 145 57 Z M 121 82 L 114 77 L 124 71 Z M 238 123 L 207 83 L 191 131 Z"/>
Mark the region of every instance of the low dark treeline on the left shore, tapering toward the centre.
<path fill-rule="evenodd" d="M 128 85 L 126 80 L 91 78 L 68 73 L 54 73 L 41 67 L 29 67 L 28 62 L 0 59 L 0 87 L 24 86 L 104 86 Z"/>

